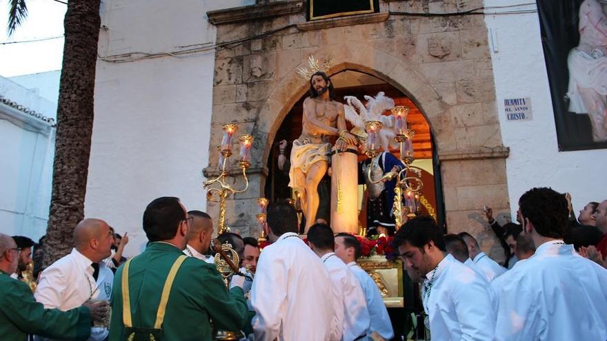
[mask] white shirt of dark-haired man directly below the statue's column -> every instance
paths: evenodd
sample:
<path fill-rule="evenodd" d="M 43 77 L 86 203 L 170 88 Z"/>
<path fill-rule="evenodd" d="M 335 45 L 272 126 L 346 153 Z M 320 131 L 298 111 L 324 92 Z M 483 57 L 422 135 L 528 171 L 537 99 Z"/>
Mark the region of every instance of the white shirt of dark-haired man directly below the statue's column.
<path fill-rule="evenodd" d="M 334 252 L 321 257 L 337 293 L 337 301 L 344 307 L 343 335 L 341 340 L 352 341 L 366 335 L 369 329 L 367 300 L 359 280 L 350 267 Z M 339 304 L 339 303 L 338 303 Z"/>

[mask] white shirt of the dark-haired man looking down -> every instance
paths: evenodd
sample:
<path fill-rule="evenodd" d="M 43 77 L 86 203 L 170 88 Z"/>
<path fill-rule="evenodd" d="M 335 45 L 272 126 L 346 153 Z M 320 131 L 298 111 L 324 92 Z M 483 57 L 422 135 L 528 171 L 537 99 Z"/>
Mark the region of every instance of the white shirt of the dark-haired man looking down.
<path fill-rule="evenodd" d="M 494 295 L 489 282 L 448 254 L 421 289 L 432 340 L 492 340 Z"/>

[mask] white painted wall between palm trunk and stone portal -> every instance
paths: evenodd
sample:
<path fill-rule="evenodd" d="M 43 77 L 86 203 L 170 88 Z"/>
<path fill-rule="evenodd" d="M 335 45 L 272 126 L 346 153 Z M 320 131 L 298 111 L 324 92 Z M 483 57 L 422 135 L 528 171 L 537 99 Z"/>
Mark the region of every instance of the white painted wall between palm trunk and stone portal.
<path fill-rule="evenodd" d="M 254 0 L 103 1 L 99 54 L 172 52 L 215 42 L 206 12 Z M 128 256 L 147 238 L 143 210 L 159 196 L 189 209 L 206 207 L 215 52 L 130 63 L 97 60 L 95 118 L 85 215 L 128 232 Z"/>

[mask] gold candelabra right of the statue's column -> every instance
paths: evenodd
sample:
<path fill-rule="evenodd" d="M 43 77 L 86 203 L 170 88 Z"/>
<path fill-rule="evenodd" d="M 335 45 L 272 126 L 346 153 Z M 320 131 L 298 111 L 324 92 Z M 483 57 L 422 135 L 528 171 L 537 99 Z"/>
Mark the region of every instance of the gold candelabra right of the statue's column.
<path fill-rule="evenodd" d="M 397 178 L 392 214 L 395 217 L 395 227 L 398 229 L 408 219 L 414 218 L 419 214 L 421 209 L 419 200 L 420 198 L 424 199 L 424 196 L 421 194 L 421 188 L 424 186 L 424 183 L 421 181 L 421 169 L 411 165 L 415 160 L 412 143 L 415 132 L 407 127 L 409 107 L 398 105 L 390 111 L 395 118 L 395 129 L 397 130 L 394 141 L 399 144 L 399 158 L 404 167 L 395 172 L 390 170 L 390 172 L 387 172 L 377 180 L 374 180 L 371 176 L 372 167 L 368 167 L 367 177 L 370 183 L 379 183 Z M 371 159 L 378 156 L 381 152 L 378 136 L 382 127 L 383 125 L 379 121 L 368 121 L 365 123 L 367 133 L 365 154 Z"/>

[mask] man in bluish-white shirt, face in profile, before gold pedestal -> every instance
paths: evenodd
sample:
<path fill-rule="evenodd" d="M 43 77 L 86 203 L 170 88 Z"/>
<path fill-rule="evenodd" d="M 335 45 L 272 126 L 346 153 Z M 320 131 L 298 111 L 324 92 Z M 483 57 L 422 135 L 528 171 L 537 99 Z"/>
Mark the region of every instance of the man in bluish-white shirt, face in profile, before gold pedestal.
<path fill-rule="evenodd" d="M 358 239 L 351 234 L 337 234 L 335 236 L 335 254 L 350 267 L 365 294 L 370 319 L 370 326 L 366 331 L 367 340 L 371 340 L 372 334 L 377 334 L 384 340 L 392 339 L 394 330 L 384 299 L 381 298 L 381 293 L 375 281 L 356 263 L 356 260 L 361 256 L 361 245 Z"/>

